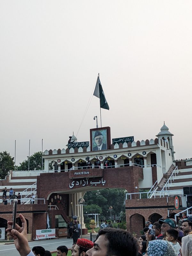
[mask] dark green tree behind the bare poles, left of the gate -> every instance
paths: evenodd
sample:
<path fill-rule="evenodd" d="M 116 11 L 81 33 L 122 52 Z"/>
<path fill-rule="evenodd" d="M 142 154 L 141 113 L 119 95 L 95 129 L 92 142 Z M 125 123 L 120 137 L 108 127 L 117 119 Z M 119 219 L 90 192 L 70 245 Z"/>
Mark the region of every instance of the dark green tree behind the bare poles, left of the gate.
<path fill-rule="evenodd" d="M 27 157 L 27 160 L 24 160 L 20 163 L 20 166 L 17 167 L 17 170 L 42 170 L 42 152 L 36 152 L 33 155 Z M 43 167 L 44 167 L 44 159 L 43 159 Z"/>

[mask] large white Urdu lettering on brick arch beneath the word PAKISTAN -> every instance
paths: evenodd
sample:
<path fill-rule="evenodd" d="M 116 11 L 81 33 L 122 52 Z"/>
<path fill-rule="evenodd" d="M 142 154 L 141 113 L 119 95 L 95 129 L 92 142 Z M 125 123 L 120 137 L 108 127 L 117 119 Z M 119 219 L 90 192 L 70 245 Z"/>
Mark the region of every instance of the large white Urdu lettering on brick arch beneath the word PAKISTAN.
<path fill-rule="evenodd" d="M 73 180 L 72 182 L 69 183 L 69 188 L 74 188 L 77 186 L 97 186 L 99 184 L 102 184 L 105 186 L 106 180 L 103 180 L 103 177 L 101 179 L 90 179 L 90 178 L 84 178 L 81 180 Z"/>

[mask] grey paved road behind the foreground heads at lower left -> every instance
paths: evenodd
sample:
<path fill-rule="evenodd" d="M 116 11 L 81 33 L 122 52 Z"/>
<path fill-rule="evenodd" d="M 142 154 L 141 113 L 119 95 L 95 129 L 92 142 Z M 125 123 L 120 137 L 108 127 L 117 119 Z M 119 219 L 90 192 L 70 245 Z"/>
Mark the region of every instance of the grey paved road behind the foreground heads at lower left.
<path fill-rule="evenodd" d="M 83 237 L 90 239 L 90 235 L 84 235 Z M 31 247 L 31 249 L 33 248 L 33 246 L 38 245 L 38 246 L 43 246 L 45 250 L 48 250 L 48 251 L 56 251 L 57 247 L 60 245 L 66 245 L 68 248 L 71 248 L 72 244 L 73 244 L 73 239 L 67 239 L 67 238 L 29 242 L 29 246 Z M 14 244 L 0 244 L 0 255 L 1 256 L 7 256 L 7 255 L 19 256 L 20 254 L 15 249 Z"/>

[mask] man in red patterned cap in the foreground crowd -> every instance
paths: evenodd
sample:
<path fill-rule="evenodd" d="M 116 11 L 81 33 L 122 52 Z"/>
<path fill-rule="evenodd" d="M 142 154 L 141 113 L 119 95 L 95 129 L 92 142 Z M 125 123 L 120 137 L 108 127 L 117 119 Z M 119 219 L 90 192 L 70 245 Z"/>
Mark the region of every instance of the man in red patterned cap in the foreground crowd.
<path fill-rule="evenodd" d="M 86 238 L 79 238 L 72 256 L 85 256 L 85 252 L 93 247 L 94 243 Z"/>

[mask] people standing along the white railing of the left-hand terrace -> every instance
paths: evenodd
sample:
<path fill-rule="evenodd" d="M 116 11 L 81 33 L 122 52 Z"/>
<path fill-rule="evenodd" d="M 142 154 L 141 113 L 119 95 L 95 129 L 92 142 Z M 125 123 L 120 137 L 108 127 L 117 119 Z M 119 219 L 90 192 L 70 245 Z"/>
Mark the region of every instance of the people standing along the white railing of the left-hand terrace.
<path fill-rule="evenodd" d="M 9 190 L 9 192 L 7 192 Z M 17 204 L 21 204 L 21 194 L 20 192 L 16 195 L 13 188 L 7 189 L 6 187 L 2 190 L 3 195 L 2 195 L 2 200 L 4 205 L 6 205 L 8 203 L 8 200 L 13 200 L 13 199 L 17 199 Z M 7 193 L 9 193 L 9 196 L 7 196 Z M 31 204 L 35 203 L 35 195 L 34 193 L 31 194 L 30 196 L 30 201 Z"/>

